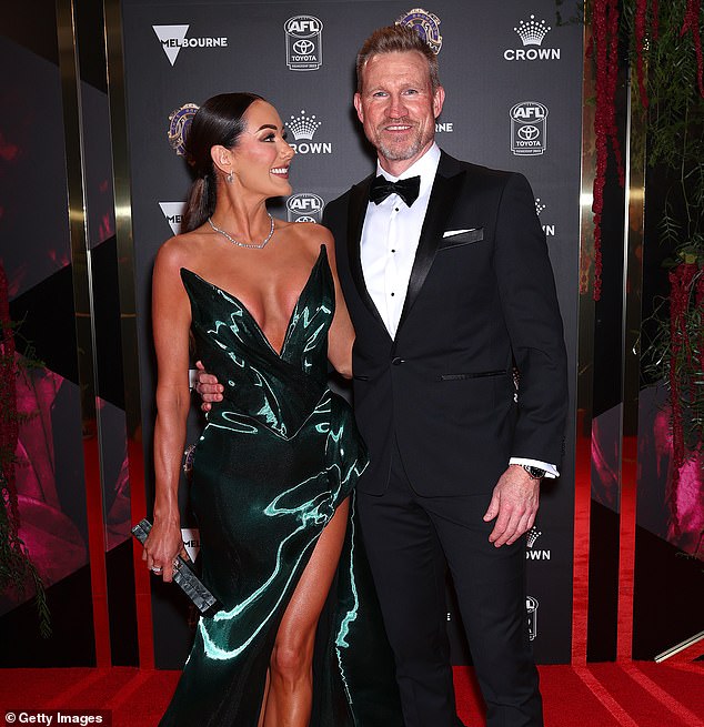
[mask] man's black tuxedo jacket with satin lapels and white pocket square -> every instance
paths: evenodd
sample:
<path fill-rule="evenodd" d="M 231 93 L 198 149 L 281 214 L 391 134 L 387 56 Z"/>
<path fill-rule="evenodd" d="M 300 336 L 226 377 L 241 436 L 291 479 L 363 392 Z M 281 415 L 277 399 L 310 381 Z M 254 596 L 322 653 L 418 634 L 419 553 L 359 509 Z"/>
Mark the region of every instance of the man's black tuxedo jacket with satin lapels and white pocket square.
<path fill-rule="evenodd" d="M 560 463 L 566 357 L 527 181 L 441 154 L 392 340 L 360 261 L 372 178 L 328 204 L 323 220 L 356 331 L 354 411 L 371 456 L 360 489 L 384 491 L 394 437 L 423 495 L 491 491 L 511 456 Z M 443 236 L 456 230 L 470 232 Z"/>

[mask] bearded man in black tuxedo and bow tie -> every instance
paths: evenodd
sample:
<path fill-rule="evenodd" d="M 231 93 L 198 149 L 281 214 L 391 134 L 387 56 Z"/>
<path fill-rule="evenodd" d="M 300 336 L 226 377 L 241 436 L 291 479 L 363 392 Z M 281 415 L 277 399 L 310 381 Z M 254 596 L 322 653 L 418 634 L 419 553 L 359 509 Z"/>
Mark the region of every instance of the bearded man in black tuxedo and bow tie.
<path fill-rule="evenodd" d="M 535 727 L 522 535 L 562 457 L 562 321 L 527 182 L 440 151 L 443 100 L 414 30 L 365 41 L 354 105 L 378 175 L 323 220 L 356 331 L 354 411 L 371 457 L 359 516 L 406 727 L 460 724 L 446 566 L 487 725 Z"/>

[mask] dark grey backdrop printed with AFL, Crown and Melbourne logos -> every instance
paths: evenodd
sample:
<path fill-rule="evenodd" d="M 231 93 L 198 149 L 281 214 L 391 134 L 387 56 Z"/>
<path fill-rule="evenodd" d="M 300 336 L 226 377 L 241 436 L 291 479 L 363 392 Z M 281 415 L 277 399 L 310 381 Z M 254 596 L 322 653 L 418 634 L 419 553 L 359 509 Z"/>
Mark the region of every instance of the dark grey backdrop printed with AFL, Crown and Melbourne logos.
<path fill-rule="evenodd" d="M 270 209 L 289 220 L 318 222 L 329 201 L 373 170 L 373 151 L 352 107 L 354 59 L 375 28 L 396 20 L 418 27 L 439 53 L 446 91 L 436 125 L 441 148 L 520 171 L 531 182 L 575 380 L 583 29 L 557 27 L 553 0 L 433 0 L 422 8 L 380 0 L 123 0 L 122 6 L 148 487 L 155 384 L 150 279 L 159 245 L 179 230 L 190 184 L 179 140 L 193 108 L 228 91 L 270 100 L 296 151 L 293 194 Z M 570 660 L 573 420 L 562 477 L 544 487 L 527 537 L 526 618 L 540 663 Z M 198 425 L 194 413 L 193 438 Z M 195 546 L 197 532 L 187 539 Z M 466 663 L 452 597 L 449 604 L 453 657 Z M 157 664 L 180 667 L 191 636 L 180 594 L 155 588 L 153 608 Z"/>

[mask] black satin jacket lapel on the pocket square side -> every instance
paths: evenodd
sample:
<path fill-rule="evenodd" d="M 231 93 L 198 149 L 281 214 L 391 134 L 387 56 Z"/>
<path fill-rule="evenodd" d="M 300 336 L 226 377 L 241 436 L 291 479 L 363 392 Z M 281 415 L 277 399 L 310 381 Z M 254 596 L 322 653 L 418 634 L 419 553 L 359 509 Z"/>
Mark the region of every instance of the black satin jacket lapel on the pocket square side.
<path fill-rule="evenodd" d="M 425 220 L 421 229 L 421 238 L 418 243 L 413 267 L 411 270 L 411 279 L 409 280 L 409 289 L 401 312 L 401 320 L 399 321 L 398 332 L 401 330 L 404 321 L 406 320 L 411 307 L 415 303 L 423 283 L 428 277 L 428 273 L 435 259 L 438 252 L 438 244 L 442 239 L 442 232 L 445 221 L 450 218 L 450 213 L 457 201 L 460 188 L 464 178 L 463 173 L 449 176 L 443 173 L 443 168 L 447 170 L 450 166 L 451 158 L 444 153 L 440 159 L 438 174 L 433 182 L 431 190 L 430 201 L 428 203 L 428 211 L 425 212 Z"/>

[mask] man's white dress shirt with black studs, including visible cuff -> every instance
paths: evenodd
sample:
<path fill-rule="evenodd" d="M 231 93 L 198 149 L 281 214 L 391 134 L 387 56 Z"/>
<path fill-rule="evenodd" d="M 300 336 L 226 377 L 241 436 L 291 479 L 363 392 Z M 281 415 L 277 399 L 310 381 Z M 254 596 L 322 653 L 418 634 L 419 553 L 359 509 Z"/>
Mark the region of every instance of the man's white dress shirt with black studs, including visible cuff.
<path fill-rule="evenodd" d="M 370 201 L 362 228 L 360 254 L 364 283 L 392 339 L 401 320 L 439 163 L 440 148 L 435 143 L 401 176 L 393 176 L 376 162 L 376 174 L 392 182 L 416 175 L 421 178 L 418 199 L 411 206 L 398 194 L 390 194 L 379 204 Z M 511 457 L 509 464 L 532 465 L 545 469 L 546 477 L 560 476 L 555 465 L 539 460 Z"/>

